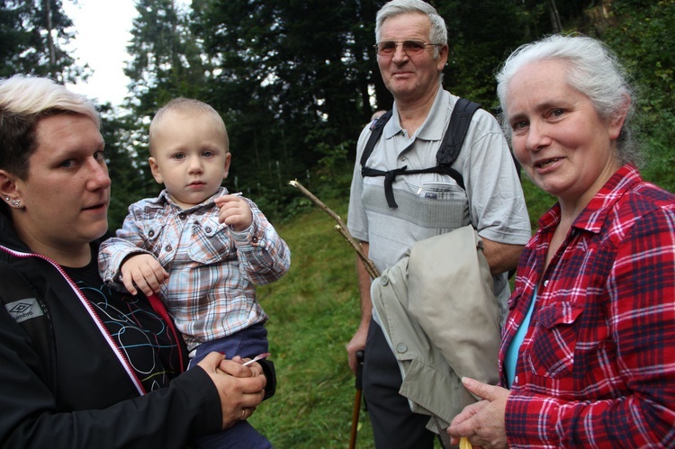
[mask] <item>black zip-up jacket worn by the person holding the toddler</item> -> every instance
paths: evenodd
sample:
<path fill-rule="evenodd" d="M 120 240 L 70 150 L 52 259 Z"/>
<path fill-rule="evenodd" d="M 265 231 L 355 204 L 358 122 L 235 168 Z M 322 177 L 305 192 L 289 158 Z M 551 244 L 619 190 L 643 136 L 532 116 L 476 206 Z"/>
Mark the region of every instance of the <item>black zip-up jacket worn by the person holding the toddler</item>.
<path fill-rule="evenodd" d="M 94 249 L 98 243 L 92 243 Z M 57 265 L 31 255 L 3 211 L 0 262 L 31 280 L 56 353 L 49 367 L 22 326 L 0 307 L 0 447 L 183 447 L 194 436 L 220 430 L 220 397 L 202 369 L 178 375 L 166 388 L 139 393 L 75 287 Z M 15 284 L 16 279 L 0 279 L 0 293 Z M 140 302 L 151 310 L 147 301 Z M 275 391 L 274 367 L 263 367 L 269 397 Z"/>

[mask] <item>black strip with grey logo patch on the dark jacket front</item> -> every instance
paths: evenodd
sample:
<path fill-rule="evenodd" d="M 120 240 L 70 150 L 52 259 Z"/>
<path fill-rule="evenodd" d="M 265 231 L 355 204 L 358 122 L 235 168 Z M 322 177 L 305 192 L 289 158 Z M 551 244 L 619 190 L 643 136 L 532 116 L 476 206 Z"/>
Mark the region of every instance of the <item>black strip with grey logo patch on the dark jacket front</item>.
<path fill-rule="evenodd" d="M 40 356 L 44 367 L 43 378 L 53 387 L 56 382 L 56 349 L 49 332 L 49 316 L 40 297 L 22 274 L 6 262 L 0 262 L 0 279 L 4 284 L 4 289 L 0 290 L 0 300 L 30 338 L 31 346 Z"/>

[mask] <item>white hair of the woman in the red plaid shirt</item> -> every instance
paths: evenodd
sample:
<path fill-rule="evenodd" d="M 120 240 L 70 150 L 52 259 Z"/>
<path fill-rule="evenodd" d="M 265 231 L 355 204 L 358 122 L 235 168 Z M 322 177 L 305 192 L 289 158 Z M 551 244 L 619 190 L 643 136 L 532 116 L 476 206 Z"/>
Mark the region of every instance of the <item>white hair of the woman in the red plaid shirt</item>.
<path fill-rule="evenodd" d="M 573 34 L 554 34 L 522 45 L 504 62 L 497 74 L 497 95 L 501 105 L 501 123 L 510 139 L 511 130 L 505 120 L 509 83 L 523 67 L 541 61 L 560 60 L 567 67 L 567 83 L 590 98 L 603 120 L 611 120 L 626 111 L 626 98 L 631 99 L 624 126 L 617 139 L 617 156 L 623 163 L 637 163 L 641 157 L 633 139 L 635 91 L 628 83 L 626 69 L 617 56 L 601 42 Z"/>

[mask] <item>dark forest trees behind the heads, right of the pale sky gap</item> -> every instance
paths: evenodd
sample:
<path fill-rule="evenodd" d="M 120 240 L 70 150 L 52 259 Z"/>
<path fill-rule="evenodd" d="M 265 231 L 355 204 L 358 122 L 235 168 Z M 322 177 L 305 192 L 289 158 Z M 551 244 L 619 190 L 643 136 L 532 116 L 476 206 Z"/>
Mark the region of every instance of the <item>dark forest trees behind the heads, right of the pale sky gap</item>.
<path fill-rule="evenodd" d="M 673 0 L 649 7 L 635 0 L 432 3 L 449 31 L 444 85 L 492 112 L 494 70 L 518 45 L 554 31 L 553 5 L 564 30 L 607 39 L 649 93 L 640 106 L 651 148 L 644 173 L 671 188 L 672 181 L 662 179 L 671 173 L 675 148 L 675 53 L 667 33 L 675 14 L 656 20 L 655 11 L 671 11 Z M 227 184 L 265 205 L 271 218 L 290 220 L 305 210 L 302 198 L 285 186 L 292 179 L 324 198 L 346 198 L 356 138 L 374 109 L 392 106 L 372 50 L 382 4 L 195 0 L 185 15 L 173 0 L 139 2 L 128 72 L 134 80 L 129 106 L 137 120 L 129 130 L 135 137 L 125 138 L 130 157 L 144 164 L 145 127 L 159 105 L 193 96 L 215 107 L 228 127 L 233 159 Z M 607 12 L 614 15 L 607 19 Z"/>

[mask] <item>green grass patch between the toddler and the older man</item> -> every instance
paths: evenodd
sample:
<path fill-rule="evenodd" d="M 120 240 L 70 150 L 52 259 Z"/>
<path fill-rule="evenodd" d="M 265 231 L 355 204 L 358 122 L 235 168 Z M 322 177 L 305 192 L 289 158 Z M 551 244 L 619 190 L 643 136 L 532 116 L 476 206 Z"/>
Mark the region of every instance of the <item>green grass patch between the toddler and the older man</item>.
<path fill-rule="evenodd" d="M 346 217 L 347 199 L 329 207 Z M 291 270 L 258 290 L 270 316 L 278 388 L 249 421 L 278 448 L 349 445 L 356 389 L 345 346 L 358 326 L 360 305 L 356 256 L 334 225 L 314 210 L 277 226 L 291 247 Z M 367 419 L 362 409 L 359 448 L 374 447 Z"/>

